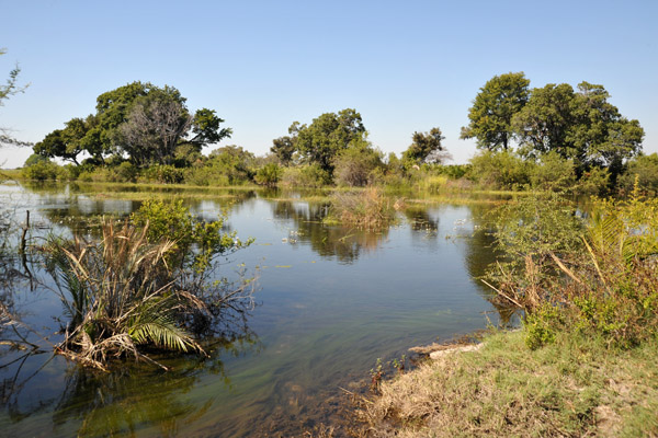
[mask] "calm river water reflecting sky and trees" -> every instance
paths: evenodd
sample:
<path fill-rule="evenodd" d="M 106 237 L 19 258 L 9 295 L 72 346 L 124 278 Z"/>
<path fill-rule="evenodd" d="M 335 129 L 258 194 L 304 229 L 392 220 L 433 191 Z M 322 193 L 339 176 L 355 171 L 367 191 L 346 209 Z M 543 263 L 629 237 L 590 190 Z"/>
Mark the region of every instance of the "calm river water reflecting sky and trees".
<path fill-rule="evenodd" d="M 75 187 L 0 185 L 0 196 L 19 220 L 32 211 L 35 240 L 139 206 L 125 193 L 115 199 Z M 170 372 L 133 362 L 91 372 L 43 342 L 41 354 L 2 347 L 2 435 L 299 436 L 319 424 L 340 435 L 349 422 L 341 388 L 367 387 L 377 358 L 497 322 L 474 279 L 491 261 L 481 229 L 487 204 L 416 206 L 399 224 L 366 232 L 324 226 L 326 204 L 291 194 L 205 191 L 183 198 L 206 219 L 229 208 L 229 228 L 256 238 L 222 272 L 235 278 L 243 264 L 259 277 L 259 306 L 247 326 L 218 341 L 209 359 L 161 358 Z M 63 312 L 52 292 L 22 280 L 4 296 L 25 323 L 58 339 Z"/>

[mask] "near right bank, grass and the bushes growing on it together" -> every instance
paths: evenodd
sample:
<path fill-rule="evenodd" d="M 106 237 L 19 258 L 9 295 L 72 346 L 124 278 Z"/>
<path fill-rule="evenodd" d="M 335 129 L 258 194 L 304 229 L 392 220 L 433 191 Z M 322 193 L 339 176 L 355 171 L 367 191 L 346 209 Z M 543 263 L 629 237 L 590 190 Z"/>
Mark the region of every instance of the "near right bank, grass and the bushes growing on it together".
<path fill-rule="evenodd" d="M 366 436 L 655 436 L 658 201 L 555 195 L 503 207 L 485 281 L 522 330 L 378 384 Z M 366 431 L 367 430 L 367 431 Z"/>

